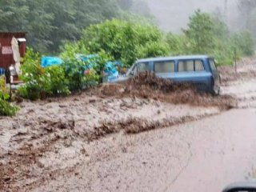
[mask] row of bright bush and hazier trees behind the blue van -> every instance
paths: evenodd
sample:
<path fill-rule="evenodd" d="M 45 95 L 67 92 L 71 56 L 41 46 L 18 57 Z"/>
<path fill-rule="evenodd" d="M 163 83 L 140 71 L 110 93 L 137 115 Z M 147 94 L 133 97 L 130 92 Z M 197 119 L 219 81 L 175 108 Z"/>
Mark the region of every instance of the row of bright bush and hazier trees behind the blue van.
<path fill-rule="evenodd" d="M 91 25 L 80 41 L 62 46 L 62 57 L 101 50 L 126 66 L 137 58 L 177 54 L 210 54 L 222 65 L 232 64 L 234 57 L 254 54 L 254 39 L 248 31 L 230 32 L 225 22 L 197 10 L 181 34 L 165 35 L 152 24 L 118 19 Z"/>

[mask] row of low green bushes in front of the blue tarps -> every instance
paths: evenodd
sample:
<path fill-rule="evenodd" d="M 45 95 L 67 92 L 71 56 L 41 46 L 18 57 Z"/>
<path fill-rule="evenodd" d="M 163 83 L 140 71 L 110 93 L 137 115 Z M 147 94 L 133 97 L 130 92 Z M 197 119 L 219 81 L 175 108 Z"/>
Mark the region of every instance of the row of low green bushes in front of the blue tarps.
<path fill-rule="evenodd" d="M 62 65 L 45 68 L 41 66 L 40 59 L 37 52 L 27 49 L 20 77 L 25 82 L 19 88 L 22 98 L 44 99 L 95 86 L 101 81 L 102 69 L 111 57 L 103 52 L 87 61 L 69 57 L 64 58 Z"/>

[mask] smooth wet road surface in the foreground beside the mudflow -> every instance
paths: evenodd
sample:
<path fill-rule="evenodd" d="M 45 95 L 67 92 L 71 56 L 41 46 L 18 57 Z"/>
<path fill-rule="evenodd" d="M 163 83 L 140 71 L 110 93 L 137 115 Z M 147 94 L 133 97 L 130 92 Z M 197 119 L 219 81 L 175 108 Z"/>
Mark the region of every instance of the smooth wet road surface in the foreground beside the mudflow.
<path fill-rule="evenodd" d="M 90 145 L 90 162 L 34 191 L 221 191 L 256 167 L 256 111 Z M 75 173 L 75 174 L 74 174 Z"/>

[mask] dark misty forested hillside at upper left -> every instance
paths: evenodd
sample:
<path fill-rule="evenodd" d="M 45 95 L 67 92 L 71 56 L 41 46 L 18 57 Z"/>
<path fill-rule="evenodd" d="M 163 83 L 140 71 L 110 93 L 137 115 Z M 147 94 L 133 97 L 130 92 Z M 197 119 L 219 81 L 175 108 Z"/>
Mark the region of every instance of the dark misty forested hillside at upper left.
<path fill-rule="evenodd" d="M 138 0 L 0 1 L 0 31 L 26 31 L 29 46 L 56 52 L 64 40 L 77 40 L 82 29 L 136 11 Z M 143 2 L 142 2 L 143 3 Z M 142 5 L 146 7 L 146 4 Z"/>

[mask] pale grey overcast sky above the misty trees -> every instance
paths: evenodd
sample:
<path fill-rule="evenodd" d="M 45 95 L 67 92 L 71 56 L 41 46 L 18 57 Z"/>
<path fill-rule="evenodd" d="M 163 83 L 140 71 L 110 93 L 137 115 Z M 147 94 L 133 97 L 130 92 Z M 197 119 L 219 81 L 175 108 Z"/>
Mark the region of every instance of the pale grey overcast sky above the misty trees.
<path fill-rule="evenodd" d="M 198 8 L 213 13 L 217 8 L 225 10 L 225 0 L 147 0 L 154 16 L 163 30 L 178 32 L 186 27 L 186 23 L 194 10 Z M 228 0 L 229 24 L 236 25 L 236 3 L 238 0 Z"/>

